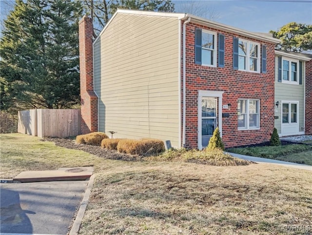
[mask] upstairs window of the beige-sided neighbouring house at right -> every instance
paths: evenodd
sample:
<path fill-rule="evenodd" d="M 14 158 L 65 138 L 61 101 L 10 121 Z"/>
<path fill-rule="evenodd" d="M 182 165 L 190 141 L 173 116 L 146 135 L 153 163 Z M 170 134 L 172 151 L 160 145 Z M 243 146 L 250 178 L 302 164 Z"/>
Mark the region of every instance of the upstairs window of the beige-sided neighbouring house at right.
<path fill-rule="evenodd" d="M 302 80 L 302 78 L 299 77 L 300 75 L 300 68 L 298 66 L 299 62 L 287 58 L 282 59 L 281 57 L 279 57 L 278 60 L 282 61 L 278 62 L 278 71 L 281 71 L 278 73 L 278 81 L 285 83 L 302 84 L 302 81 L 299 83 L 299 80 Z"/>

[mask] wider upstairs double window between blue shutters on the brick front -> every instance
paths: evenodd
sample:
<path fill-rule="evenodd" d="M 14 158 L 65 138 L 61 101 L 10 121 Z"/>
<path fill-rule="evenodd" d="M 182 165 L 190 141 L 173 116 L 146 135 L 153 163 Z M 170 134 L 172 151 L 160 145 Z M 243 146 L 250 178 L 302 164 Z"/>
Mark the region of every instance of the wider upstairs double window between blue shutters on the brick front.
<path fill-rule="evenodd" d="M 259 48 L 259 44 L 238 40 L 238 70 L 260 72 Z"/>

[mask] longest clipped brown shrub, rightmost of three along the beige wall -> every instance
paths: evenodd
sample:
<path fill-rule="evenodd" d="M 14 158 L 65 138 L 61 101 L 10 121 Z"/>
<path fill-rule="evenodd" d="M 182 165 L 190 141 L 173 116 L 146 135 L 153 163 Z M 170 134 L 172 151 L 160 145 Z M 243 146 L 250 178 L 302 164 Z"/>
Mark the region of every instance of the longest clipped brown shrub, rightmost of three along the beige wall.
<path fill-rule="evenodd" d="M 143 140 L 120 140 L 117 145 L 117 150 L 120 153 L 128 153 L 132 155 L 151 156 L 158 155 L 165 151 L 163 141 L 156 139 L 143 139 Z"/>

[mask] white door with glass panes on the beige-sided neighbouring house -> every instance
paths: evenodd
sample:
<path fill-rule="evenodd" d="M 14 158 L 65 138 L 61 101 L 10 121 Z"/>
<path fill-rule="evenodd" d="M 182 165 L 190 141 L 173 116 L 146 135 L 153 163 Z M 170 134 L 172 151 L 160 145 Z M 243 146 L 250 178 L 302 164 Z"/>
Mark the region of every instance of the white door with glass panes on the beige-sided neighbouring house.
<path fill-rule="evenodd" d="M 299 102 L 282 101 L 282 136 L 299 134 Z"/>

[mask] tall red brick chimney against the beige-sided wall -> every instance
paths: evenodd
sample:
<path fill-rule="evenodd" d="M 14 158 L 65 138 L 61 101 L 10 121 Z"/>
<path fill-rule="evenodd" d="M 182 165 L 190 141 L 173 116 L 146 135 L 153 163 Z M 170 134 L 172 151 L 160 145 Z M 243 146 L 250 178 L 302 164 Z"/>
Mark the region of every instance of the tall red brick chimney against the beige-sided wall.
<path fill-rule="evenodd" d="M 79 21 L 81 133 L 98 131 L 98 97 L 93 88 L 93 23 Z"/>

